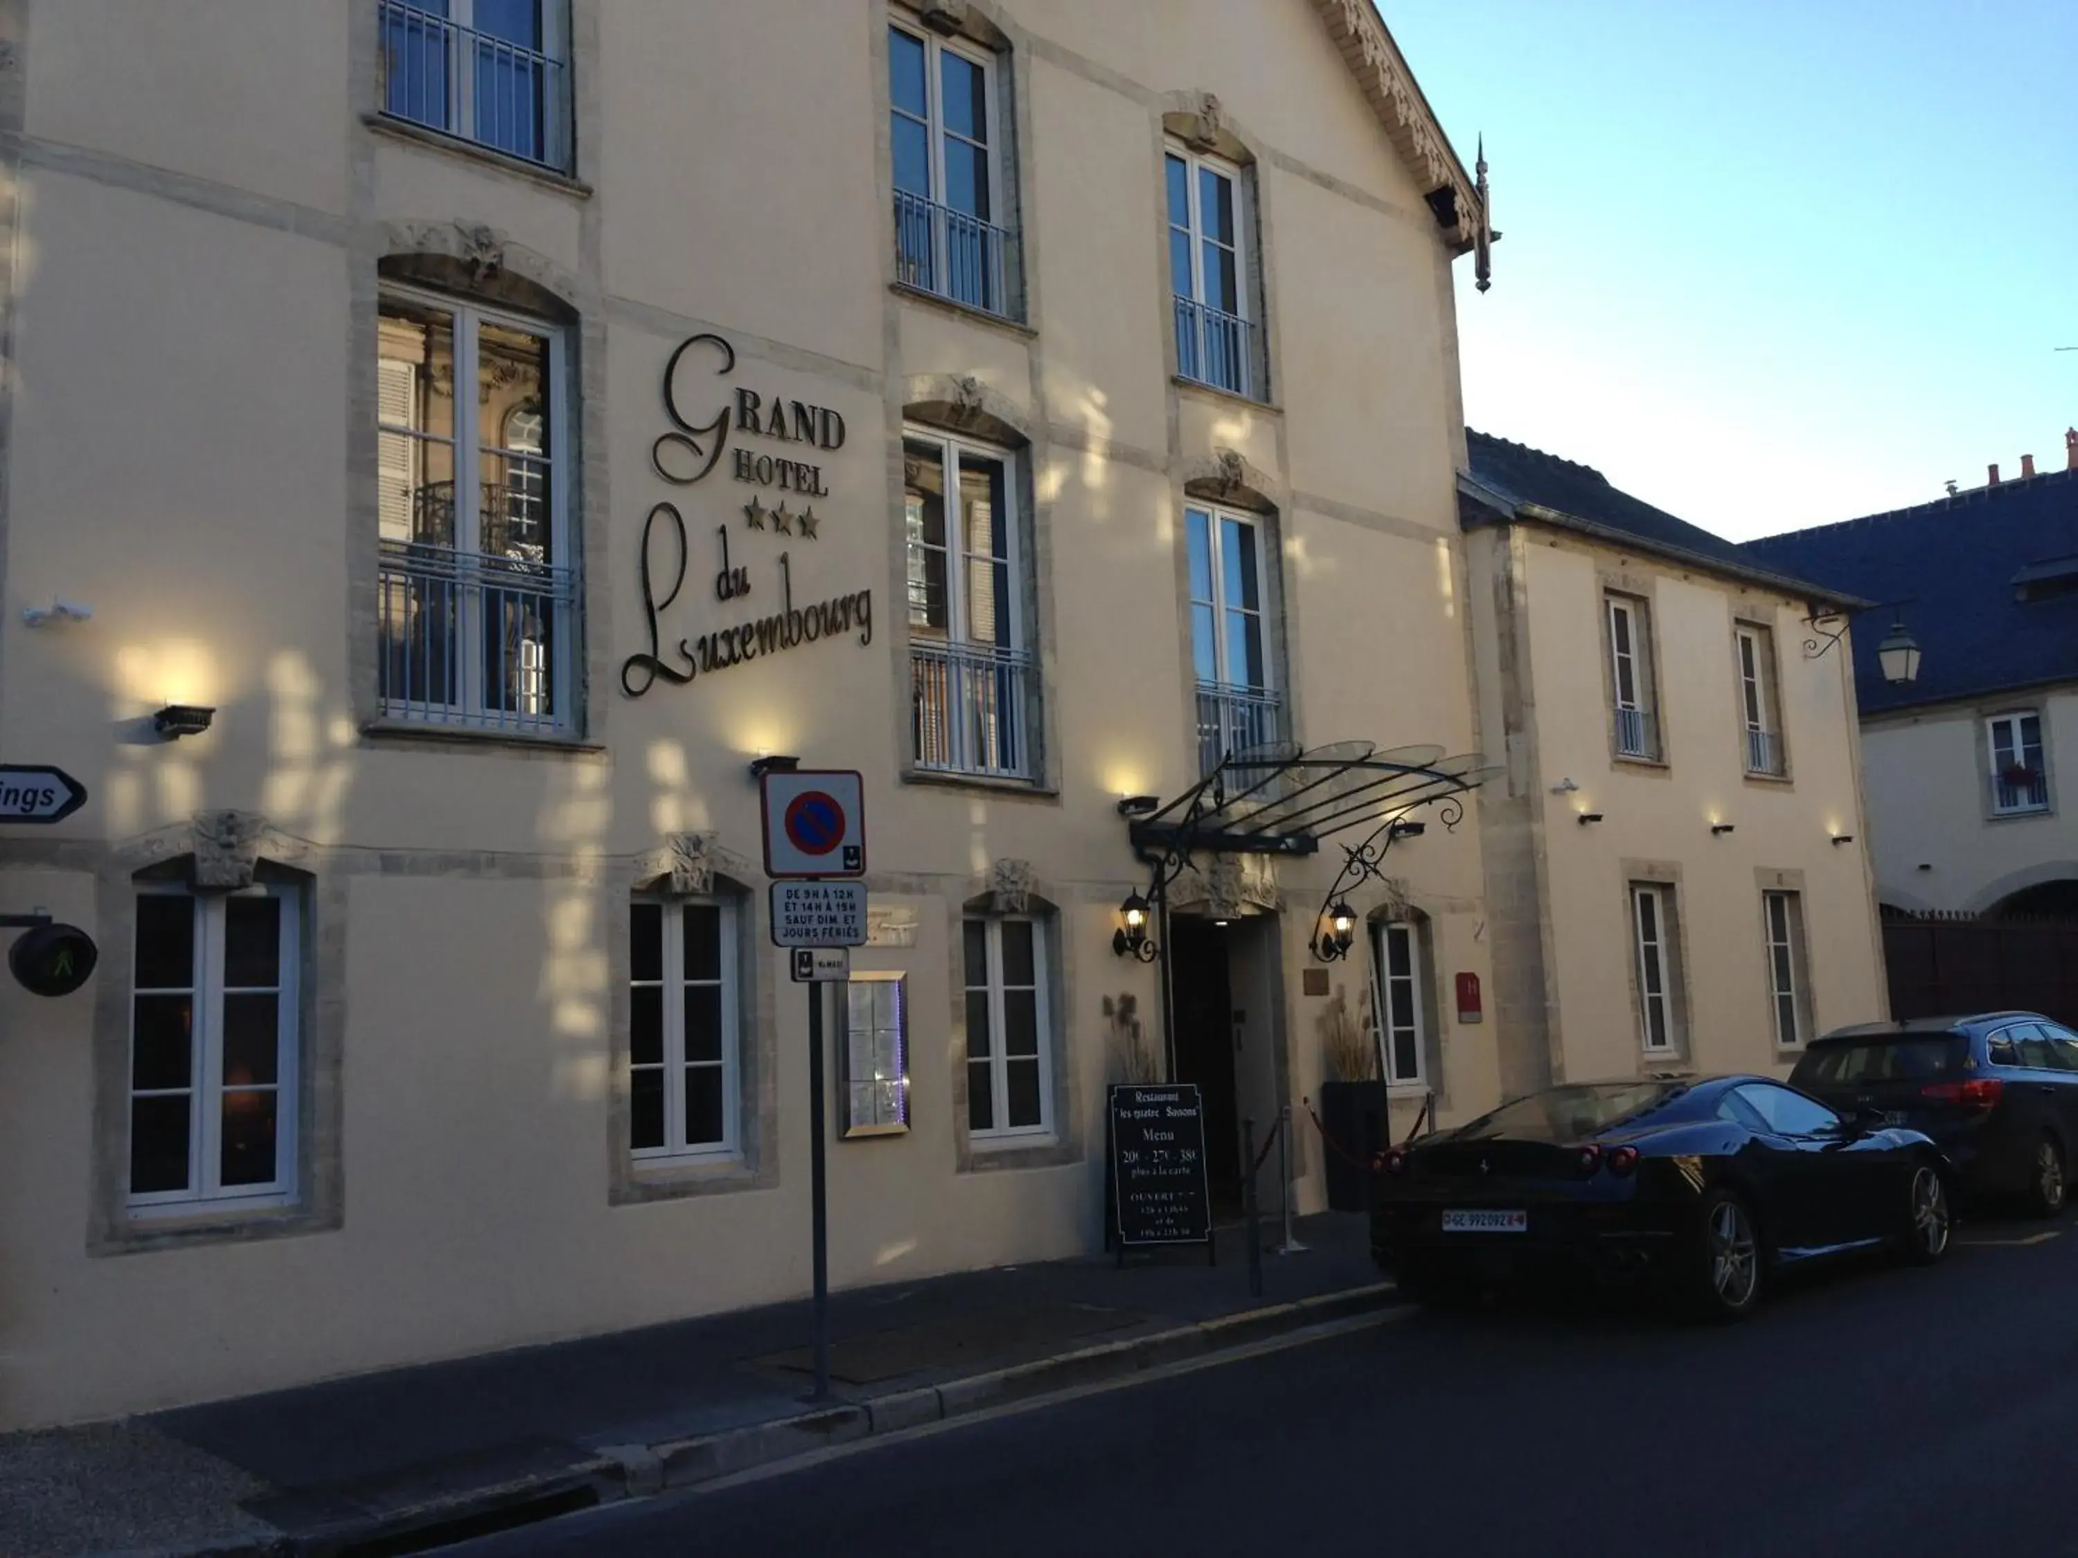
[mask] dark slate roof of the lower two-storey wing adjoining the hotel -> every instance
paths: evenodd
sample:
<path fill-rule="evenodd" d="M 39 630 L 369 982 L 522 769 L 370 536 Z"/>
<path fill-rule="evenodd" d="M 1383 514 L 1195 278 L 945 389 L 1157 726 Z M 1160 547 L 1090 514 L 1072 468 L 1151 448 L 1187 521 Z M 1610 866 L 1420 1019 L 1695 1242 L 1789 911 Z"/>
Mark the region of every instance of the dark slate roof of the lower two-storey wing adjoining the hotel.
<path fill-rule="evenodd" d="M 1679 563 L 1714 567 L 1793 596 L 1833 594 L 1806 582 L 1793 569 L 1777 569 L 1766 559 L 1748 555 L 1737 542 L 1633 499 L 1610 486 L 1608 478 L 1592 465 L 1579 465 L 1471 428 L 1465 430 L 1465 445 L 1471 455 L 1471 482 L 1482 488 L 1467 496 L 1502 519 L 1519 517 L 1567 526 Z"/>

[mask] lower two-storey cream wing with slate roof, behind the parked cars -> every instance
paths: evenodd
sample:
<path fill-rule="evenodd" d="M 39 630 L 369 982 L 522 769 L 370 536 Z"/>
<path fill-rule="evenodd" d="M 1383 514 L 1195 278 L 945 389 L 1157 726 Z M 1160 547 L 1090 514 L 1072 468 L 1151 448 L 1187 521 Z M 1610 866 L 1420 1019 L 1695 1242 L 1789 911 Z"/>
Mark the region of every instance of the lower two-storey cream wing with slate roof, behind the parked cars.
<path fill-rule="evenodd" d="M 1586 465 L 1469 451 L 1502 1089 L 1787 1072 L 1885 1016 L 1851 652 L 1804 648 L 1856 600 Z"/>

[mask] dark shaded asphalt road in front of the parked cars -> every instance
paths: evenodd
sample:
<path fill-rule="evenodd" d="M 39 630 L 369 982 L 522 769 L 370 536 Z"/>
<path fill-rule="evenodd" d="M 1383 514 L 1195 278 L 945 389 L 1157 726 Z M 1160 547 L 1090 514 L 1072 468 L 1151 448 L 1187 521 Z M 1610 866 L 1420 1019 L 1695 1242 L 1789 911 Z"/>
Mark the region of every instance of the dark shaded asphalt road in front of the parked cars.
<path fill-rule="evenodd" d="M 2078 1224 L 1962 1238 L 1727 1329 L 1411 1315 L 449 1552 L 2078 1554 Z"/>

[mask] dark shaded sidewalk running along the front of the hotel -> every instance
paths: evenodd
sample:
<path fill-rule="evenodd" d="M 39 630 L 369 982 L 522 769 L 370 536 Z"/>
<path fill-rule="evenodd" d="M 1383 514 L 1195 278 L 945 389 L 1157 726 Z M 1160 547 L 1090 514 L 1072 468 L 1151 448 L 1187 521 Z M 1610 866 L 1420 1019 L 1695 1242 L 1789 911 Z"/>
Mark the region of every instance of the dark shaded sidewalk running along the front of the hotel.
<path fill-rule="evenodd" d="M 652 1494 L 827 1444 L 1390 1305 L 1361 1215 L 1297 1224 L 1263 1296 L 1247 1246 L 960 1271 L 831 1296 L 810 1406 L 806 1300 L 0 1435 L 0 1554 L 418 1552 L 472 1521 Z M 411 1539 L 407 1533 L 416 1533 Z"/>

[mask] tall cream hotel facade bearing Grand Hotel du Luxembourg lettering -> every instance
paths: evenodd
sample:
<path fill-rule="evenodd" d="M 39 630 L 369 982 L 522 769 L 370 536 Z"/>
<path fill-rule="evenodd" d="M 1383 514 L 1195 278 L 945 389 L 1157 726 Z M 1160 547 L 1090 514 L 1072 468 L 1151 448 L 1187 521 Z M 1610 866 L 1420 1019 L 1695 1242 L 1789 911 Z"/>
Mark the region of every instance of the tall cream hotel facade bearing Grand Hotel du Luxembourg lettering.
<path fill-rule="evenodd" d="M 1122 798 L 1480 742 L 1482 199 L 1369 0 L 0 44 L 0 760 L 91 796 L 0 823 L 0 910 L 100 945 L 0 985 L 0 1427 L 804 1292 L 767 756 L 864 775 L 840 1286 L 1093 1248 L 1105 1082 L 1199 1080 L 1222 1170 L 1371 968 L 1396 1118 L 1496 1101 L 1438 995 L 1494 976 L 1477 827 L 1351 889 L 1342 962 L 1332 843 L 1197 854 L 1114 953 Z M 1851 806 L 1797 760 L 1770 804 Z"/>

